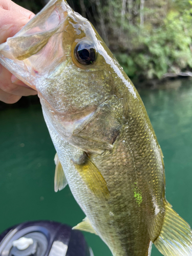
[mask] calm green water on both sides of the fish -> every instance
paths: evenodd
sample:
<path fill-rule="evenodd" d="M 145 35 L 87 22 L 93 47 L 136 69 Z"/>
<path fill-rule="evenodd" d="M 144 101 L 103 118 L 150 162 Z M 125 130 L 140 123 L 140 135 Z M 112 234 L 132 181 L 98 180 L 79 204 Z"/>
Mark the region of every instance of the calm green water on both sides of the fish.
<path fill-rule="evenodd" d="M 192 81 L 140 95 L 163 151 L 166 198 L 192 226 Z M 84 214 L 69 187 L 54 192 L 55 150 L 40 105 L 2 110 L 0 122 L 0 232 L 28 220 L 79 223 Z M 95 256 L 112 255 L 99 237 L 84 234 Z"/>

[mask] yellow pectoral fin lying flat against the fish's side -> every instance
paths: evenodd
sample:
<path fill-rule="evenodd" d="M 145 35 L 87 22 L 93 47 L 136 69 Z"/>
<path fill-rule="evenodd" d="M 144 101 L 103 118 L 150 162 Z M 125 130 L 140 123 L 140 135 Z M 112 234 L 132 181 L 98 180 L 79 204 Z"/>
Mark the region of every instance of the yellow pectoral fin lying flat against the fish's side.
<path fill-rule="evenodd" d="M 87 155 L 84 155 L 83 159 L 84 162 L 81 164 L 73 161 L 78 173 L 97 197 L 102 200 L 108 199 L 110 196 L 110 192 L 106 181 L 102 177 L 95 164 L 92 163 Z"/>

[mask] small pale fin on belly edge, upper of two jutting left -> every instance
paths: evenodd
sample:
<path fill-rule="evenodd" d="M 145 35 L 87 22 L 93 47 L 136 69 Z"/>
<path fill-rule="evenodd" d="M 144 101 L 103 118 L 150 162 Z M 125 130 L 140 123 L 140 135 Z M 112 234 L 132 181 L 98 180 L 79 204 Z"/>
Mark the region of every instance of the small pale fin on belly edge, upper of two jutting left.
<path fill-rule="evenodd" d="M 67 182 L 66 176 L 63 172 L 63 168 L 59 161 L 57 153 L 55 154 L 54 161 L 56 164 L 56 167 L 55 167 L 55 192 L 57 192 L 58 190 L 65 188 L 66 185 L 68 184 L 68 182 Z"/>

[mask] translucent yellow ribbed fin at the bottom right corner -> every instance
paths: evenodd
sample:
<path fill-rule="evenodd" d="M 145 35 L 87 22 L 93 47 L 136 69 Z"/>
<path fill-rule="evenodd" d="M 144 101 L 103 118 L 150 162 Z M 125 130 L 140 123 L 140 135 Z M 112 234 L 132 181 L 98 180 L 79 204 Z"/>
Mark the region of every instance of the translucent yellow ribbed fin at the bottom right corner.
<path fill-rule="evenodd" d="M 165 209 L 163 226 L 154 245 L 164 256 L 191 256 L 192 231 L 189 224 L 169 203 L 165 205 Z"/>

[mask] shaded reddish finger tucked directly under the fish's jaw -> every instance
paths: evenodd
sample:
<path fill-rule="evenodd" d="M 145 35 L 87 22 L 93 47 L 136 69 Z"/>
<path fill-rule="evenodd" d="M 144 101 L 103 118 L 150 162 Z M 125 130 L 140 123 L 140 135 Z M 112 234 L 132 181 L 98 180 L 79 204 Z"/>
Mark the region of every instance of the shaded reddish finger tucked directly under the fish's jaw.
<path fill-rule="evenodd" d="M 33 89 L 20 86 L 22 81 L 16 80 L 14 83 L 11 82 L 12 74 L 3 66 L 0 70 L 0 89 L 6 93 L 14 94 L 18 96 L 29 96 L 36 95 L 37 92 Z"/>

